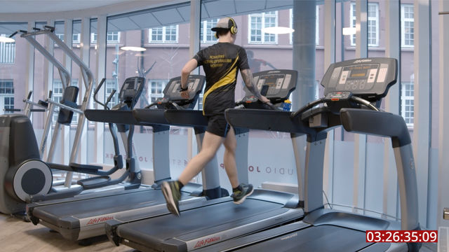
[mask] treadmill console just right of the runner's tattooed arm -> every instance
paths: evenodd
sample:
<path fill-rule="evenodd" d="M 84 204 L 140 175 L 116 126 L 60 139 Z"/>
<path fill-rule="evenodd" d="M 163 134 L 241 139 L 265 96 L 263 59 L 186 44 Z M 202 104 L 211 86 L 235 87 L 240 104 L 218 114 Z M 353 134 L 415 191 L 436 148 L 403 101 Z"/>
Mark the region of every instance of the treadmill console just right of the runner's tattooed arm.
<path fill-rule="evenodd" d="M 295 70 L 269 70 L 253 73 L 253 80 L 257 87 L 257 90 L 267 97 L 272 104 L 277 104 L 288 99 L 290 93 L 295 90 L 297 82 L 297 71 Z M 243 87 L 246 97 L 243 98 L 244 102 L 250 103 L 257 102 L 257 98 L 248 88 Z"/>

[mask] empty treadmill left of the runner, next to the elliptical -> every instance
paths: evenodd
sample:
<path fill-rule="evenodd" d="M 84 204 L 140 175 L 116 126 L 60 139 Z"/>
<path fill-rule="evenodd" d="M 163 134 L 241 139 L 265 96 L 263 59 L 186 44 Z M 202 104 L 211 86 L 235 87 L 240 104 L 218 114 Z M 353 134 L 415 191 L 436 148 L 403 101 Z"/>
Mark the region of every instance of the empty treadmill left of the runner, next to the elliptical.
<path fill-rule="evenodd" d="M 89 120 L 105 123 L 121 123 L 128 125 L 145 125 L 153 128 L 154 185 L 130 190 L 90 193 L 62 200 L 47 200 L 27 204 L 27 215 L 37 225 L 41 223 L 59 232 L 62 237 L 72 241 L 105 235 L 104 223 L 114 218 L 140 216 L 148 214 L 159 216 L 169 214 L 166 201 L 159 189 L 159 184 L 170 179 L 170 160 L 168 158 L 168 122 L 163 117 L 166 108 L 192 109 L 203 89 L 204 76 L 189 76 L 191 88 L 190 99 L 171 99 L 173 88 L 179 87 L 180 77 L 172 78 L 163 90 L 164 97 L 159 98 L 146 109 L 154 115 L 153 123 L 139 123 L 133 117 L 133 111 L 86 110 Z M 179 91 L 177 91 L 179 94 Z M 179 97 L 177 97 L 179 98 Z M 159 109 L 151 109 L 159 108 Z M 159 116 L 158 116 L 159 115 Z M 127 160 L 127 167 L 133 159 Z M 140 174 L 140 173 L 139 173 Z M 140 178 L 141 179 L 141 178 Z M 182 188 L 180 204 L 191 204 L 204 201 L 203 197 L 193 197 L 201 186 L 189 183 Z M 200 189 L 201 190 L 201 189 Z"/>

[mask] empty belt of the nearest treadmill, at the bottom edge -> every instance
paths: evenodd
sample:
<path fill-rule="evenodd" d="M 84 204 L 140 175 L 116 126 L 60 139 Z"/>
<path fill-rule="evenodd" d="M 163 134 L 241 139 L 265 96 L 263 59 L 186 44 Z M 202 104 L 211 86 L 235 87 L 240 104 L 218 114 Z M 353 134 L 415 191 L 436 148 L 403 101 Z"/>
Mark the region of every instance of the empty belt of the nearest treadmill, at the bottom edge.
<path fill-rule="evenodd" d="M 239 251 L 359 251 L 373 243 L 365 232 L 333 225 L 319 225 L 290 232 Z"/>

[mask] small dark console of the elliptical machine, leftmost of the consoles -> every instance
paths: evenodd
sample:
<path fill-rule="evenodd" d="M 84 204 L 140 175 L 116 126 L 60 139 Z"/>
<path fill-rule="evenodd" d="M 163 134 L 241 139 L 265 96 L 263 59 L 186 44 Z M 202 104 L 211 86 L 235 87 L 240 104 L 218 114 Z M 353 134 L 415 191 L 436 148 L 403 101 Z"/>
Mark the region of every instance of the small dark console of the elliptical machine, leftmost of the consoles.
<path fill-rule="evenodd" d="M 138 102 L 140 94 L 142 94 L 143 87 L 145 86 L 145 78 L 142 77 L 130 77 L 126 78 L 125 82 L 121 86 L 119 93 L 119 102 L 127 104 L 130 108 Z"/>

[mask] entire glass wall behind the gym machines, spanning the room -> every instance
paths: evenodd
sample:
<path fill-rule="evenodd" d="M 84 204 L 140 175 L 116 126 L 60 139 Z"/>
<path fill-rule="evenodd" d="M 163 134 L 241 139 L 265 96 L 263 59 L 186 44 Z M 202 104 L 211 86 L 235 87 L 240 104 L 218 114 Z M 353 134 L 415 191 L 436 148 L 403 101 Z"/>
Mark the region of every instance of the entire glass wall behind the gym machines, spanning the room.
<path fill-rule="evenodd" d="M 387 13 L 387 1 L 370 0 L 367 5 L 367 45 L 368 57 L 384 57 L 389 45 L 386 45 L 386 30 L 389 25 L 385 20 Z M 429 206 L 435 206 L 435 197 L 432 196 L 436 183 L 432 180 L 436 179 L 434 169 L 438 166 L 436 157 L 438 156 L 438 1 L 430 1 L 431 3 L 431 150 L 429 152 Z M 324 34 L 325 14 L 324 6 L 326 1 L 317 1 L 316 6 L 316 83 L 321 82 L 326 69 L 323 67 L 324 61 Z M 400 25 L 401 45 L 400 51 L 401 64 L 400 69 L 400 92 L 398 97 L 392 98 L 394 102 L 400 104 L 401 116 L 406 120 L 410 134 L 420 134 L 415 132 L 413 125 L 415 122 L 415 1 L 400 1 L 400 7 L 397 13 L 397 22 Z M 356 25 L 356 1 L 337 1 L 335 4 L 335 61 L 340 62 L 345 59 L 354 59 L 356 57 L 356 34 L 354 32 L 343 32 L 344 29 L 354 28 Z M 441 10 L 443 11 L 443 10 Z M 216 43 L 215 36 L 210 28 L 216 25 L 217 20 L 224 16 L 233 17 L 239 26 L 239 34 L 237 36 L 237 45 L 246 49 L 250 68 L 253 72 L 264 71 L 269 69 L 292 69 L 293 62 L 290 56 L 293 52 L 293 36 L 290 34 L 266 34 L 262 32 L 264 27 L 286 26 L 292 27 L 293 9 L 291 1 L 234 1 L 232 4 L 223 4 L 222 1 L 203 0 L 201 1 L 201 22 L 199 24 L 200 33 L 199 41 L 201 48 L 206 48 Z M 189 3 L 178 5 L 164 6 L 149 10 L 141 10 L 133 13 L 125 13 L 123 15 L 114 15 L 107 18 L 107 31 L 104 34 L 106 39 L 106 71 L 105 91 L 102 92 L 102 99 L 109 96 L 112 90 L 119 90 L 123 81 L 130 76 L 142 76 L 146 78 L 146 87 L 144 94 L 140 97 L 137 107 L 142 108 L 154 102 L 161 97 L 161 92 L 170 78 L 180 75 L 182 66 L 190 59 L 189 47 L 189 27 L 190 27 L 190 6 Z M 426 20 L 422 20 L 423 22 Z M 46 22 L 36 22 L 36 27 L 41 28 Z M 65 23 L 57 20 L 55 22 L 55 33 L 60 38 L 66 40 Z M 91 20 L 90 31 L 90 67 L 95 73 L 99 64 L 97 62 L 98 55 L 98 21 Z M 0 34 L 11 34 L 18 29 L 27 29 L 27 23 L 4 23 L 0 22 Z M 72 49 L 76 54 L 80 54 L 81 46 L 81 22 L 73 22 Z M 417 36 L 417 34 L 416 34 Z M 103 36 L 101 36 L 103 37 Z M 26 96 L 28 90 L 25 90 L 25 83 L 28 73 L 26 73 L 28 62 L 26 53 L 27 41 L 20 36 L 15 36 L 14 43 L 0 43 L 0 113 L 4 113 L 3 109 L 14 107 L 15 109 L 23 108 L 23 97 Z M 36 39 L 40 43 L 45 43 L 42 36 Z M 125 45 L 138 46 L 145 48 L 145 51 L 125 51 L 121 48 Z M 419 52 L 419 51 L 417 51 Z M 62 54 L 58 46 L 54 45 L 55 57 L 62 62 Z M 48 96 L 48 90 L 53 90 L 54 99 L 62 97 L 62 88 L 60 76 L 53 66 L 47 67 L 46 59 L 40 52 L 34 50 L 34 81 L 29 87 L 34 90 L 32 99 L 38 101 Z M 79 85 L 81 77 L 77 66 L 72 66 L 72 83 Z M 201 69 L 201 73 L 203 71 Z M 100 76 L 102 73 L 100 73 Z M 95 80 L 98 83 L 99 80 Z M 236 100 L 243 97 L 243 83 L 241 78 L 238 79 L 236 88 Z M 79 94 L 81 96 L 81 94 Z M 322 88 L 317 85 L 316 96 L 322 95 Z M 397 99 L 397 100 L 396 100 Z M 117 104 L 118 96 L 116 95 L 111 105 Z M 295 101 L 293 101 L 295 102 Z M 199 109 L 201 109 L 201 97 Z M 420 104 L 421 106 L 421 104 Z M 426 104 L 422 106 L 427 106 Z M 384 108 L 384 104 L 382 104 Z M 32 116 L 34 129 L 40 143 L 44 116 L 34 113 Z M 75 116 L 74 122 L 77 118 Z M 94 123 L 88 123 L 88 144 L 87 156 L 88 161 L 95 160 L 95 137 Z M 114 155 L 112 148 L 112 140 L 109 136 L 107 125 L 102 127 L 105 138 L 102 143 L 104 151 L 102 153 L 106 163 L 112 164 Z M 354 206 L 354 195 L 363 195 L 365 202 L 363 207 L 375 213 L 381 212 L 382 204 L 384 204 L 384 195 L 379 190 L 379 185 L 385 183 L 385 179 L 389 176 L 378 172 L 380 167 L 385 165 L 384 150 L 388 143 L 387 139 L 380 137 L 367 137 L 366 141 L 358 141 L 356 134 L 344 132 L 341 127 L 333 131 L 333 146 L 331 153 L 331 167 L 328 184 L 329 191 L 326 192 L 331 203 L 337 204 L 345 209 Z M 185 167 L 189 157 L 185 149 L 192 146 L 189 142 L 189 132 L 186 128 L 172 127 L 170 130 L 170 165 L 172 169 L 172 177 L 177 178 L 180 171 Z M 148 143 L 152 141 L 152 130 L 147 127 L 138 127 L 135 132 L 135 151 L 137 153 L 136 160 L 140 162 L 142 169 L 152 169 L 152 146 Z M 356 141 L 354 141 L 356 140 Z M 387 143 L 387 144 L 386 144 Z M 358 144 L 366 144 L 363 147 L 364 154 L 361 149 L 357 148 Z M 260 146 L 269 146 L 269 148 L 260 148 Z M 290 136 L 288 134 L 277 132 L 250 132 L 249 144 L 249 164 L 248 169 L 250 183 L 260 186 L 264 181 L 273 181 L 281 183 L 297 183 L 295 160 L 293 151 L 291 151 Z M 196 153 L 193 147 L 193 155 Z M 282 151 L 274 151 L 282 150 Z M 123 148 L 121 152 L 124 153 Z M 217 160 L 222 162 L 223 150 L 220 149 Z M 362 153 L 362 154 L 361 154 Z M 262 158 L 258 158 L 262 157 Z M 365 158 L 365 167 L 357 167 L 356 158 Z M 58 162 L 58 160 L 55 160 Z M 241 167 L 239 167 L 241 169 Z M 229 182 L 224 169 L 220 169 L 222 184 L 229 189 Z M 358 171 L 358 174 L 356 172 Z M 357 176 L 358 175 L 358 176 Z M 362 176 L 363 175 L 363 176 Z M 388 174 L 387 174 L 388 175 Z M 389 179 L 389 178 L 388 178 Z M 326 181 L 325 181 L 326 183 Z M 396 182 L 395 182 L 396 183 Z M 363 188 L 361 188 L 361 185 Z M 438 185 L 436 185 L 438 186 Z M 393 194 L 393 193 L 392 193 Z M 435 195 L 435 194 L 434 194 Z M 391 200 L 391 199 L 389 199 Z M 396 200 L 396 199 L 394 199 Z M 389 206 L 394 205 L 396 210 L 396 202 L 389 202 Z M 432 211 L 436 211 L 435 209 Z M 369 214 L 365 212 L 365 214 Z M 385 214 L 385 213 L 384 213 Z M 388 215 L 391 214 L 389 209 Z M 396 216 L 398 217 L 398 216 Z M 430 219 L 430 218 L 429 218 Z M 425 225 L 424 223 L 422 225 Z"/>

